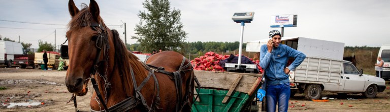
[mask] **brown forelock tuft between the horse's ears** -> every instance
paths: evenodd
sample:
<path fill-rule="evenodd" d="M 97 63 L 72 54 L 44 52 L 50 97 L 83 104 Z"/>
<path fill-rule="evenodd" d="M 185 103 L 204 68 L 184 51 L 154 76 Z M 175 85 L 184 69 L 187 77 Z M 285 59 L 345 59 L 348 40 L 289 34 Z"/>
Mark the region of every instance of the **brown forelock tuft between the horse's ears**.
<path fill-rule="evenodd" d="M 81 8 L 81 11 L 77 15 L 75 15 L 69 22 L 69 29 L 90 26 L 91 22 L 94 21 L 92 18 L 92 14 L 89 12 L 89 7 L 83 3 L 81 4 Z M 107 28 L 106 24 L 104 24 L 104 21 L 100 16 L 98 17 L 98 21 L 96 22 L 98 22 L 98 24 L 102 24 L 103 27 Z"/>

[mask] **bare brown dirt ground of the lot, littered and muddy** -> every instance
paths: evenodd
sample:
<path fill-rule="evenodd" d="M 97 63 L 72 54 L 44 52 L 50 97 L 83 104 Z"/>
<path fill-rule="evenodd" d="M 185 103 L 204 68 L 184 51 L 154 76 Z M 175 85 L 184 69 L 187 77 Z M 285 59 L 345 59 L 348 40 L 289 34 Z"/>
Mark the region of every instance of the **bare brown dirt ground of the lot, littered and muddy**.
<path fill-rule="evenodd" d="M 16 69 L 0 67 L 0 111 L 75 111 L 74 103 L 67 103 L 72 94 L 64 85 L 66 71 Z M 390 81 L 386 86 L 390 87 Z M 7 89 L 1 90 L 2 87 Z M 77 97 L 78 109 L 89 111 L 91 85 L 85 96 Z M 388 111 L 390 110 L 390 89 L 378 93 L 377 97 L 367 99 L 362 94 L 348 94 L 346 97 L 336 93 L 323 92 L 322 97 L 335 98 L 329 102 L 305 100 L 303 94 L 290 98 L 288 111 Z M 10 103 L 37 102 L 39 105 L 14 106 Z M 42 103 L 43 102 L 43 103 Z M 340 104 L 343 102 L 343 104 Z M 291 107 L 293 106 L 294 107 Z M 349 107 L 352 106 L 352 107 Z"/>

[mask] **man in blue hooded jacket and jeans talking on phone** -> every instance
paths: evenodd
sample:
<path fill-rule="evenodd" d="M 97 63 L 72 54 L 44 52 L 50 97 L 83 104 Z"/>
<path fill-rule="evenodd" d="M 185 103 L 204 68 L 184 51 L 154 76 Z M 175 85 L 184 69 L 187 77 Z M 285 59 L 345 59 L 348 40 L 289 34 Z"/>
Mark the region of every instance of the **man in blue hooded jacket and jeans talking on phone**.
<path fill-rule="evenodd" d="M 295 60 L 286 67 L 289 57 L 294 57 Z M 277 102 L 279 111 L 287 111 L 290 98 L 288 73 L 297 68 L 305 58 L 306 55 L 302 52 L 281 44 L 278 30 L 270 31 L 270 40 L 260 49 L 260 66 L 265 69 L 267 79 L 267 111 L 275 111 Z"/>

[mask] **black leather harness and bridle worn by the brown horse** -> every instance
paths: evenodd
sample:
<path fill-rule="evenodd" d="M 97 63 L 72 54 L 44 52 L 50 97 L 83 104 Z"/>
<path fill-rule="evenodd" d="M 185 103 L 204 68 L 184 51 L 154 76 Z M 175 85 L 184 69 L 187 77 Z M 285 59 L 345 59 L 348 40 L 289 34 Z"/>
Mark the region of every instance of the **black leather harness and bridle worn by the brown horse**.
<path fill-rule="evenodd" d="M 88 25 L 84 24 L 81 27 L 85 27 L 85 26 L 88 26 Z M 91 79 L 91 83 L 92 83 L 93 88 L 94 88 L 94 90 L 96 92 L 96 96 L 99 98 L 101 104 L 104 107 L 104 110 L 100 110 L 100 111 L 128 111 L 128 110 L 131 110 L 134 107 L 138 106 L 139 104 L 142 104 L 144 106 L 144 108 L 146 110 L 148 110 L 148 111 L 154 111 L 153 108 L 161 109 L 161 108 L 158 107 L 159 104 L 160 104 L 159 103 L 159 101 L 160 101 L 159 85 L 158 85 L 158 80 L 157 80 L 157 78 L 156 78 L 156 76 L 154 74 L 155 72 L 160 72 L 160 73 L 167 74 L 172 80 L 174 80 L 175 85 L 176 85 L 177 98 L 178 98 L 178 101 L 176 103 L 176 111 L 181 111 L 182 108 L 186 104 L 188 104 L 188 105 L 190 104 L 189 103 L 189 100 L 190 100 L 189 99 L 189 95 L 192 92 L 190 90 L 190 87 L 192 85 L 190 85 L 190 84 L 192 84 L 192 80 L 196 81 L 196 83 L 198 84 L 198 87 L 200 87 L 200 84 L 199 84 L 199 81 L 197 80 L 197 78 L 194 76 L 194 74 L 191 73 L 191 78 L 186 81 L 186 85 L 188 85 L 187 86 L 188 89 L 186 89 L 184 97 L 187 100 L 182 101 L 182 78 L 181 78 L 181 73 L 184 73 L 184 75 L 185 75 L 186 71 L 190 71 L 190 70 L 193 69 L 193 68 L 191 68 L 191 69 L 184 70 L 185 68 L 188 68 L 191 65 L 191 63 L 188 63 L 187 65 L 184 65 L 184 62 L 185 62 L 186 58 L 183 57 L 183 61 L 182 61 L 181 65 L 180 65 L 180 68 L 176 72 L 167 72 L 167 71 L 164 70 L 163 67 L 154 67 L 152 65 L 146 65 L 145 63 L 141 62 L 144 65 L 144 68 L 147 69 L 149 72 L 148 72 L 148 76 L 141 82 L 141 84 L 138 87 L 137 87 L 137 83 L 136 83 L 136 80 L 135 80 L 135 75 L 134 75 L 133 69 L 130 66 L 131 76 L 132 76 L 132 79 L 133 79 L 133 85 L 134 85 L 134 89 L 135 89 L 135 96 L 128 97 L 128 98 L 122 100 L 121 102 L 119 102 L 117 104 L 114 104 L 113 106 L 108 108 L 107 105 L 106 105 L 107 97 L 109 97 L 108 94 L 107 94 L 107 90 L 110 88 L 110 83 L 107 81 L 108 80 L 107 79 L 107 67 L 106 67 L 106 71 L 105 71 L 103 76 L 101 74 L 99 74 L 99 71 L 98 71 L 99 65 L 102 62 L 108 61 L 108 59 L 109 59 L 109 57 L 107 55 L 107 60 L 99 61 L 100 55 L 102 53 L 102 51 L 101 51 L 102 48 L 103 48 L 103 52 L 104 52 L 103 55 L 108 54 L 108 53 L 106 53 L 106 50 L 108 52 L 108 49 L 110 49 L 110 45 L 108 45 L 108 36 L 107 36 L 108 34 L 107 34 L 106 30 L 105 30 L 105 27 L 102 24 L 92 23 L 89 26 L 94 31 L 97 31 L 98 34 L 99 34 L 98 38 L 96 38 L 96 41 L 95 41 L 95 46 L 96 46 L 96 48 L 98 48 L 98 53 L 96 54 L 97 58 L 93 62 L 94 66 L 91 68 L 91 77 L 89 77 L 88 79 Z M 98 28 L 100 28 L 100 31 L 98 30 Z M 67 38 L 67 40 L 68 40 L 68 38 Z M 60 52 L 61 52 L 61 58 L 62 59 L 69 59 L 68 45 L 63 45 L 64 43 L 67 42 L 67 40 L 61 44 Z M 106 65 L 107 65 L 107 63 L 106 63 Z M 94 78 L 94 75 L 96 75 L 96 74 L 99 74 L 99 76 L 102 77 L 104 79 L 104 81 L 105 81 L 104 87 L 105 87 L 105 95 L 106 95 L 105 96 L 105 98 L 106 98 L 105 101 L 106 102 L 103 100 L 103 96 L 100 93 L 98 84 L 96 83 L 96 80 Z M 155 90 L 157 89 L 156 100 L 155 100 L 155 103 L 152 102 L 152 105 L 151 105 L 152 107 L 147 105 L 144 96 L 140 92 L 140 90 L 143 88 L 143 86 L 146 84 L 146 82 L 149 81 L 151 76 L 153 76 L 153 79 L 154 79 Z M 79 111 L 77 109 L 76 95 L 72 94 L 72 97 L 69 100 L 69 102 L 71 100 L 73 100 L 73 102 L 74 102 L 75 110 Z M 98 100 L 96 99 L 96 101 L 98 101 Z M 154 97 L 153 97 L 153 101 L 154 101 Z M 98 101 L 98 103 L 99 103 L 99 101 Z M 182 105 L 180 105 L 180 103 L 182 103 Z M 100 103 L 99 103 L 99 107 L 100 107 Z M 90 109 L 90 110 L 91 111 L 95 111 L 95 110 L 92 110 L 92 109 Z"/>

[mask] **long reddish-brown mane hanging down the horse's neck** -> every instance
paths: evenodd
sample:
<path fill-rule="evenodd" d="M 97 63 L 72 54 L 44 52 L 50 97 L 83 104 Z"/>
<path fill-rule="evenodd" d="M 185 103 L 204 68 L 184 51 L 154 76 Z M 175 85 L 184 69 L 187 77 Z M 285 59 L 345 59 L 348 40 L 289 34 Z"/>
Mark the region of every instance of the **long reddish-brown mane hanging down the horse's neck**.
<path fill-rule="evenodd" d="M 118 69 L 119 75 L 123 76 L 123 85 L 127 96 L 133 96 L 133 81 L 131 77 L 130 66 L 133 69 L 136 79 L 143 79 L 145 76 L 145 68 L 136 57 L 136 55 L 128 52 L 123 41 L 119 38 L 119 33 L 116 30 L 111 30 L 113 33 L 114 47 L 115 47 L 115 66 Z M 140 83 L 142 80 L 138 80 Z"/>

